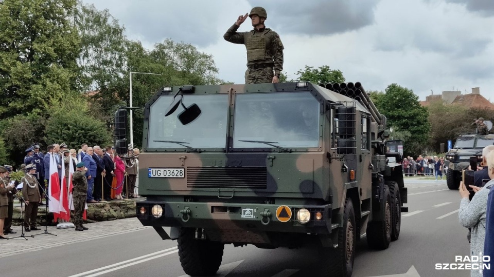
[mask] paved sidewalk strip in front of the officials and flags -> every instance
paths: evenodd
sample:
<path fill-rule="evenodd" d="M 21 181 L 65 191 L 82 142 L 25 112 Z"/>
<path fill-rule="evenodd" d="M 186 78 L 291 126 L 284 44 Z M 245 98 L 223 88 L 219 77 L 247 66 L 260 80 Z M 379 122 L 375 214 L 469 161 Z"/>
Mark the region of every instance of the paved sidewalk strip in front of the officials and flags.
<path fill-rule="evenodd" d="M 43 234 L 45 227 L 38 226 L 41 230 L 24 232 L 26 238 L 28 239 L 27 241 L 23 238 L 0 240 L 0 258 L 151 228 L 148 226 L 143 226 L 136 217 L 132 217 L 130 219 L 86 223 L 84 226 L 89 228 L 89 230 L 75 231 L 74 228 L 57 229 L 55 226 L 48 226 L 48 232 L 56 234 L 56 236 Z M 8 234 L 7 236 L 12 238 L 14 236 L 21 235 L 21 226 L 12 226 L 12 229 L 17 233 Z M 41 235 L 34 236 L 34 238 L 28 236 L 40 233 Z"/>

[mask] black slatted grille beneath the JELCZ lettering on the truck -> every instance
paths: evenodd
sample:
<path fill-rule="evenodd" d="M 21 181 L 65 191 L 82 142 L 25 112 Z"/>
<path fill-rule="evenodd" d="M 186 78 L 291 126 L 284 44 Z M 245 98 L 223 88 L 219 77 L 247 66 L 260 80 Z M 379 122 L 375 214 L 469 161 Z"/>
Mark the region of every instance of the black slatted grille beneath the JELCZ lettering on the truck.
<path fill-rule="evenodd" d="M 266 167 L 187 167 L 188 188 L 267 188 Z"/>

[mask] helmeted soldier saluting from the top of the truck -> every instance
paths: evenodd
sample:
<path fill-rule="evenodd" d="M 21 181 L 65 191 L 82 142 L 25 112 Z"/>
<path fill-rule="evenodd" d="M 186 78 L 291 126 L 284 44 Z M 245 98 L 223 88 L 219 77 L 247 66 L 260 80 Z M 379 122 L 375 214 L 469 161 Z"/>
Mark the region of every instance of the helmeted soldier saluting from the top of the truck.
<path fill-rule="evenodd" d="M 237 32 L 247 16 L 251 18 L 254 29 Z M 278 83 L 283 71 L 283 43 L 275 31 L 264 26 L 267 18 L 264 8 L 254 7 L 249 14 L 240 15 L 223 35 L 226 41 L 244 44 L 247 49 L 245 84 Z"/>

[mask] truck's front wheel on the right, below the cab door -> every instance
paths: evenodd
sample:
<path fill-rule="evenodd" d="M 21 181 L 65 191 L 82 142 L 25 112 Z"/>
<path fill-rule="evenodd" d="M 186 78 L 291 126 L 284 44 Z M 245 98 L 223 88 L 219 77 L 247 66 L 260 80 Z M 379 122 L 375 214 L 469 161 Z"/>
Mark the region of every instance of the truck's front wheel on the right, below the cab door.
<path fill-rule="evenodd" d="M 351 276 L 354 269 L 356 233 L 354 206 L 349 198 L 345 200 L 343 228 L 338 230 L 336 249 L 321 247 L 320 259 L 323 276 Z"/>

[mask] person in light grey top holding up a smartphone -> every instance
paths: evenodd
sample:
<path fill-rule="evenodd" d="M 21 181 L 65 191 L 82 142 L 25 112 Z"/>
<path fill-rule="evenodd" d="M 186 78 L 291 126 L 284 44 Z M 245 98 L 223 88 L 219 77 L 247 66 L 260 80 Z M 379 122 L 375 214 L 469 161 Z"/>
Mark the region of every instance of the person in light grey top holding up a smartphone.
<path fill-rule="evenodd" d="M 494 177 L 494 155 L 488 157 L 489 175 Z M 487 214 L 487 197 L 490 192 L 493 181 L 487 183 L 483 189 L 477 191 L 470 201 L 470 192 L 465 184 L 460 182 L 460 211 L 458 212 L 458 221 L 463 227 L 471 228 L 470 255 L 478 256 L 484 252 L 484 241 L 486 235 L 486 214 Z M 474 186 L 470 185 L 473 189 Z M 493 224 L 494 226 L 494 224 Z M 491 234 L 492 235 L 492 234 Z M 494 235 L 492 235 L 494 236 Z M 484 253 L 486 255 L 486 253 Z M 482 276 L 479 270 L 471 270 L 471 276 Z"/>

